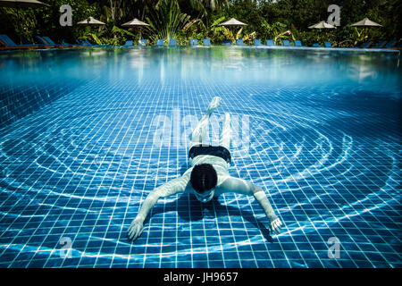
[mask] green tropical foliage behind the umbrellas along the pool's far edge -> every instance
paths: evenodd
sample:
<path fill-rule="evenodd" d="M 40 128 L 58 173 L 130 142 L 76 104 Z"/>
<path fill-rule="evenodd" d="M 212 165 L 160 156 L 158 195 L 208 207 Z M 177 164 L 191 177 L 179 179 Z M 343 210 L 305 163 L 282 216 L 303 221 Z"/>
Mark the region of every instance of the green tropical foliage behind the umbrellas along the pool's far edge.
<path fill-rule="evenodd" d="M 156 38 L 176 38 L 180 44 L 189 38 L 211 38 L 222 43 L 224 38 L 234 41 L 243 38 L 251 44 L 255 38 L 272 38 L 276 44 L 282 39 L 301 39 L 304 45 L 330 40 L 334 46 L 353 46 L 357 41 L 371 39 L 400 39 L 402 29 L 400 0 L 41 0 L 49 7 L 0 7 L 0 34 L 17 39 L 24 36 L 34 41 L 35 35 L 72 41 L 88 38 L 97 44 L 121 45 L 127 39 L 138 39 L 138 29 L 122 29 L 121 24 L 138 18 L 149 23 L 140 32 L 151 43 Z M 72 27 L 61 27 L 59 8 L 70 4 Z M 341 6 L 341 26 L 331 30 L 312 30 L 308 26 L 326 21 L 330 4 Z M 78 21 L 93 16 L 106 23 L 103 27 L 80 27 Z M 237 29 L 219 26 L 231 17 L 247 23 Z M 349 24 L 368 17 L 383 27 L 359 29 Z"/>

